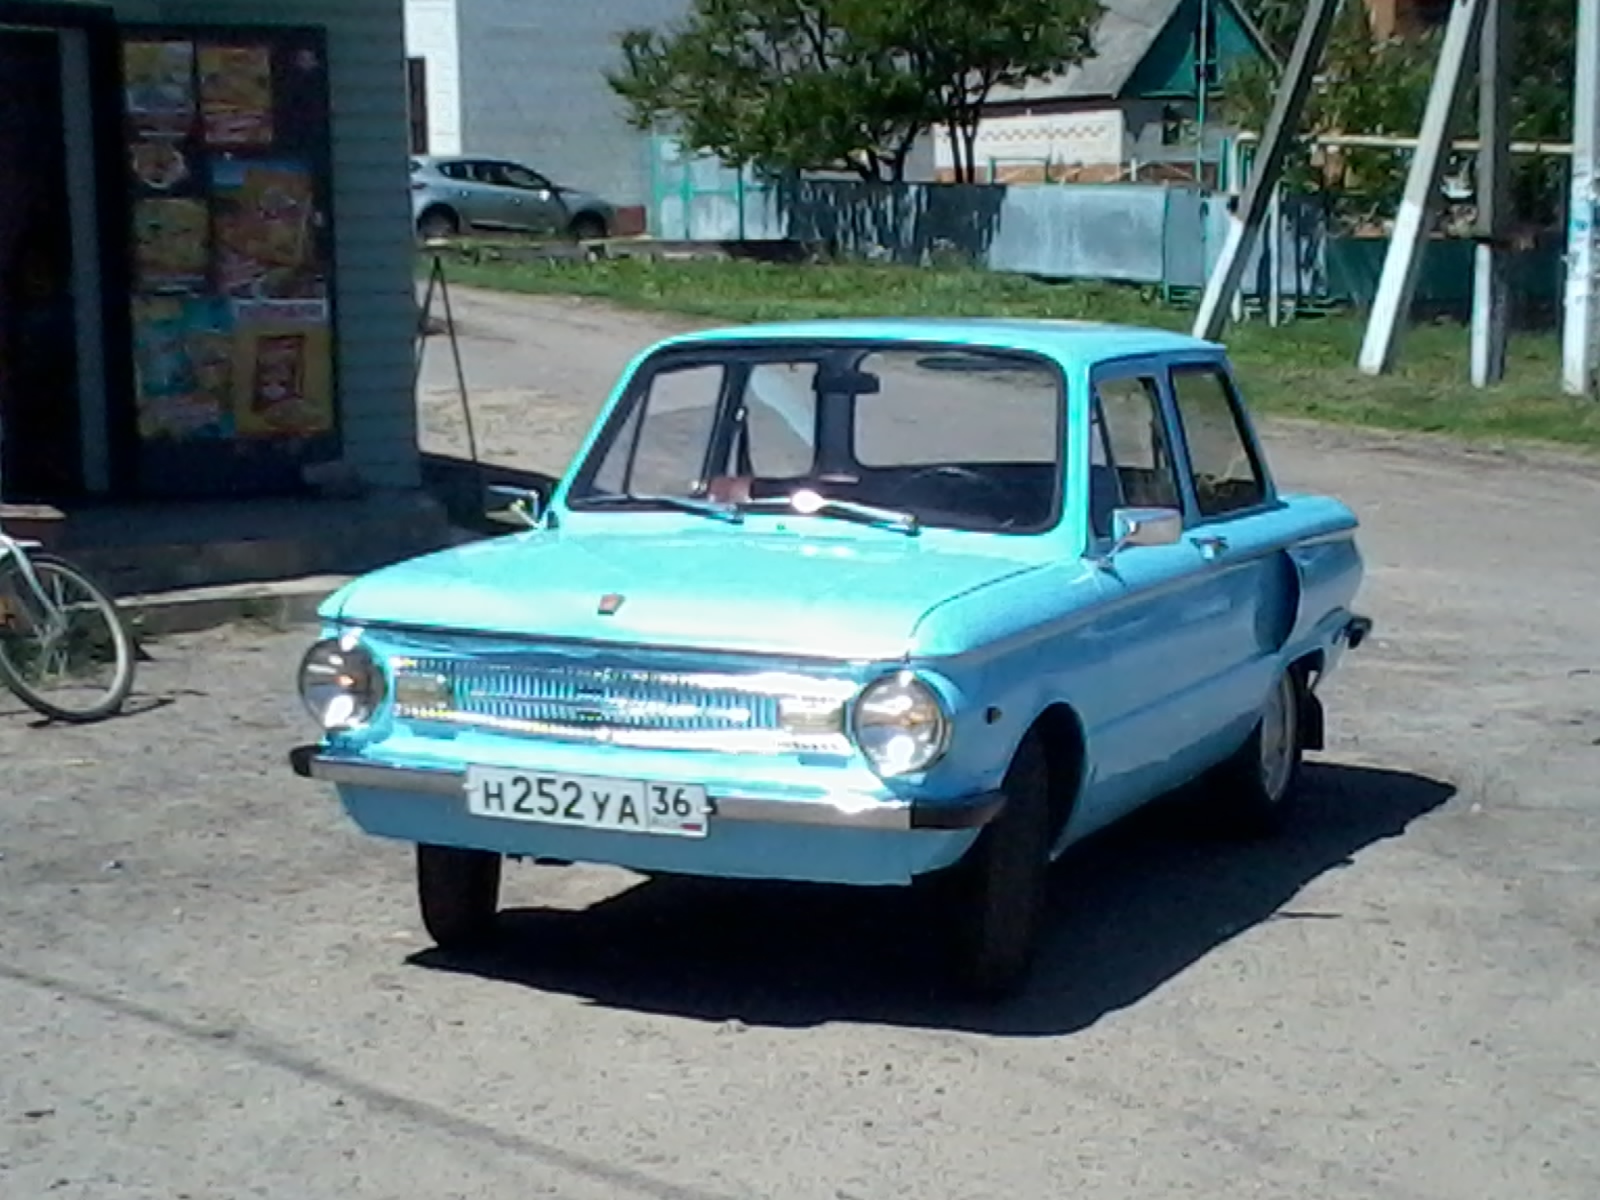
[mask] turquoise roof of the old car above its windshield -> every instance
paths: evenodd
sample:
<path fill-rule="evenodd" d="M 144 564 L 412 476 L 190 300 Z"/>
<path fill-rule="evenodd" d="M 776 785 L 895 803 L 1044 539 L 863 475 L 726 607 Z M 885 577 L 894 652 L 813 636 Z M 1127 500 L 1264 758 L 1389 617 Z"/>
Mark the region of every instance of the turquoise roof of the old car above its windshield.
<path fill-rule="evenodd" d="M 1005 317 L 827 318 L 736 325 L 669 338 L 664 346 L 723 341 L 902 341 L 1027 350 L 1070 362 L 1102 362 L 1146 354 L 1222 352 L 1218 342 L 1171 330 L 1107 322 Z"/>

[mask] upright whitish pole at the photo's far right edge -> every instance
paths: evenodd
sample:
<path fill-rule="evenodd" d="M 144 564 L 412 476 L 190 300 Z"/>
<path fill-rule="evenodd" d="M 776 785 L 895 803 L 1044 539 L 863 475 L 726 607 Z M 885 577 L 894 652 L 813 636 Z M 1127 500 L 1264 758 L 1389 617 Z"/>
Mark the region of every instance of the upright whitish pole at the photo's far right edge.
<path fill-rule="evenodd" d="M 1573 189 L 1566 211 L 1562 387 L 1590 395 L 1595 373 L 1595 187 L 1600 184 L 1600 0 L 1578 0 L 1573 72 Z"/>

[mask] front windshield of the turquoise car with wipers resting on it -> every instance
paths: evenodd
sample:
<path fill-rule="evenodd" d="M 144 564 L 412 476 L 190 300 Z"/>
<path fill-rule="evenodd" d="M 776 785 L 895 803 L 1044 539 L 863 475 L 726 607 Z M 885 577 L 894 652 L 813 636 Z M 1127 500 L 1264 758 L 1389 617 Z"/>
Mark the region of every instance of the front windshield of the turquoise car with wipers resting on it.
<path fill-rule="evenodd" d="M 1062 440 L 1061 373 L 1032 355 L 675 349 L 635 374 L 566 502 L 1037 533 L 1059 514 Z"/>

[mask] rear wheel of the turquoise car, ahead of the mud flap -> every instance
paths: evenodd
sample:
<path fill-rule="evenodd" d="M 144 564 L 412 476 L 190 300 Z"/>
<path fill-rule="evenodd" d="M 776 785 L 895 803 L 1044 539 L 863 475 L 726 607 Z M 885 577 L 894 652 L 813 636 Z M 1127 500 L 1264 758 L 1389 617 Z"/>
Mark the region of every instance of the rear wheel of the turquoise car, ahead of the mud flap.
<path fill-rule="evenodd" d="M 1299 794 L 1306 755 L 1306 678 L 1294 667 L 1272 685 L 1267 707 L 1245 744 L 1211 771 L 1208 808 L 1230 837 L 1283 829 Z"/>

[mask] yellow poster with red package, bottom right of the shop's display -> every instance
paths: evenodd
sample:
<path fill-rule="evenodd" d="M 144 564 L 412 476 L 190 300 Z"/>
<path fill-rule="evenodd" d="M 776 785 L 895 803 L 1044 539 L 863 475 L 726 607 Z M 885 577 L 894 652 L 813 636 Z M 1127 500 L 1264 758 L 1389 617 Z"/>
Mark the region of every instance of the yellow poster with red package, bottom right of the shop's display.
<path fill-rule="evenodd" d="M 240 325 L 234 344 L 238 437 L 333 432 L 333 338 L 326 325 Z"/>

